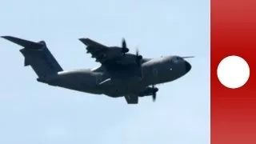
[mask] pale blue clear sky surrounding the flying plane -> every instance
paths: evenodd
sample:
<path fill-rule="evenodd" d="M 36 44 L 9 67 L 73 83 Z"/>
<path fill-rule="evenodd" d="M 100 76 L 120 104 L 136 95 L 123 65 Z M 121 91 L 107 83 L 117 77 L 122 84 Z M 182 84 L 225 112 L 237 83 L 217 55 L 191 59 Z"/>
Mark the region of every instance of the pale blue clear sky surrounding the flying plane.
<path fill-rule="evenodd" d="M 145 58 L 194 55 L 189 74 L 158 86 L 157 101 L 127 105 L 47 86 L 23 67 L 22 47 L 0 39 L 0 143 L 210 142 L 210 3 L 206 0 L 2 1 L 0 35 L 45 40 L 65 70 L 99 66 L 78 38 L 126 38 Z"/>

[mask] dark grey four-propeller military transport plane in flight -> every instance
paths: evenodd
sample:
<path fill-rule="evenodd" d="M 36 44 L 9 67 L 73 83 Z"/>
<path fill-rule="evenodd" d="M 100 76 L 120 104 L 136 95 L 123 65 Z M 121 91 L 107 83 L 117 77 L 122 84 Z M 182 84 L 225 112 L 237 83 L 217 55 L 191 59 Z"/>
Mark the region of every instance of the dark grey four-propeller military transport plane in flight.
<path fill-rule="evenodd" d="M 138 97 L 152 96 L 155 101 L 156 84 L 171 82 L 187 74 L 191 65 L 177 55 L 143 58 L 130 54 L 126 41 L 122 46 L 104 46 L 90 38 L 79 38 L 87 53 L 100 62 L 94 69 L 63 70 L 46 46 L 46 42 L 30 42 L 22 38 L 2 36 L 23 48 L 25 66 L 31 66 L 38 82 L 60 86 L 90 94 L 105 94 L 112 98 L 125 97 L 128 104 L 137 104 Z"/>

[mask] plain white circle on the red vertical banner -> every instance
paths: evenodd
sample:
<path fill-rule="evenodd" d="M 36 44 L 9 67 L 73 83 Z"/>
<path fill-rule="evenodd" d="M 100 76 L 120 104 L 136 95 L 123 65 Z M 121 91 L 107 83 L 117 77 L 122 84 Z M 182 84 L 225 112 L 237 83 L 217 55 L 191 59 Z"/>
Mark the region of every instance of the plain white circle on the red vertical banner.
<path fill-rule="evenodd" d="M 237 89 L 246 84 L 250 77 L 250 67 L 241 57 L 229 56 L 218 64 L 218 80 L 223 86 Z"/>

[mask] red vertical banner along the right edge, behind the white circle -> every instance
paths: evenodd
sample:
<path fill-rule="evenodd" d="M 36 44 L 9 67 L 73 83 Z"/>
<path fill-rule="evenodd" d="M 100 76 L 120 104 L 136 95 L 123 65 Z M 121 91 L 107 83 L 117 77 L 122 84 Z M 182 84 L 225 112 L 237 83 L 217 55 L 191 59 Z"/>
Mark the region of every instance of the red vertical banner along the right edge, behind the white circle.
<path fill-rule="evenodd" d="M 217 72 L 230 55 L 250 66 L 248 81 L 236 89 L 223 85 Z M 245 73 L 238 62 L 234 66 L 227 74 Z M 211 144 L 256 144 L 256 0 L 211 0 L 210 69 Z"/>

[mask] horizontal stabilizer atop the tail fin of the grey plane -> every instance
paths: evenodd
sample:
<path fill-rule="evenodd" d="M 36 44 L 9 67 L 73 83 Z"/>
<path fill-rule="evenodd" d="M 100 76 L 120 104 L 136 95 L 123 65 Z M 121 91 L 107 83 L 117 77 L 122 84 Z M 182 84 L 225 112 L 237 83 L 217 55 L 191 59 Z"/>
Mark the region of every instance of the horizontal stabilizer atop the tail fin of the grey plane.
<path fill-rule="evenodd" d="M 5 38 L 10 42 L 14 42 L 19 46 L 23 46 L 29 49 L 41 49 L 42 46 L 44 46 L 42 42 L 31 42 L 22 38 L 15 38 L 12 36 L 2 36 L 2 38 Z"/>

